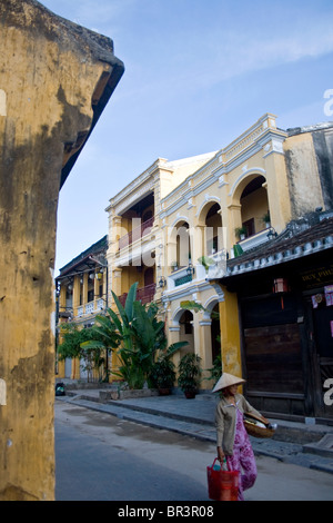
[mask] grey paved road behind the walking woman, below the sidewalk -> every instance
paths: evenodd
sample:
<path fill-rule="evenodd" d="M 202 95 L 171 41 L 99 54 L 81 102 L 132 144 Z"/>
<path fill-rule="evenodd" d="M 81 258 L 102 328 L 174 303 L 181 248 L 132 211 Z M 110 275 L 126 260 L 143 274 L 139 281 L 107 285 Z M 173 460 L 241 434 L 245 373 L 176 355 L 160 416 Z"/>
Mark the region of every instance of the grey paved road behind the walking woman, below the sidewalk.
<path fill-rule="evenodd" d="M 56 401 L 57 501 L 208 504 L 215 446 Z M 332 501 L 333 475 L 259 456 L 246 501 Z"/>

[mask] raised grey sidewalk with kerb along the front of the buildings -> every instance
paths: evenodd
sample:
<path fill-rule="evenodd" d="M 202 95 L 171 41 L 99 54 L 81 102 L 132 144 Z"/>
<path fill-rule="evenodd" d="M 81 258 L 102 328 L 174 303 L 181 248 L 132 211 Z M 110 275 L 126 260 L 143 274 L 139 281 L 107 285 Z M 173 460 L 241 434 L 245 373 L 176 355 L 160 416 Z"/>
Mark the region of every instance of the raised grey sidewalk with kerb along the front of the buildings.
<path fill-rule="evenodd" d="M 154 428 L 172 431 L 201 441 L 215 442 L 216 396 L 182 394 L 101 402 L 103 389 L 68 389 L 57 399 L 110 414 Z M 100 394 L 101 393 L 101 394 Z M 278 424 L 274 438 L 251 437 L 256 455 L 265 455 L 333 474 L 333 426 L 270 420 Z"/>

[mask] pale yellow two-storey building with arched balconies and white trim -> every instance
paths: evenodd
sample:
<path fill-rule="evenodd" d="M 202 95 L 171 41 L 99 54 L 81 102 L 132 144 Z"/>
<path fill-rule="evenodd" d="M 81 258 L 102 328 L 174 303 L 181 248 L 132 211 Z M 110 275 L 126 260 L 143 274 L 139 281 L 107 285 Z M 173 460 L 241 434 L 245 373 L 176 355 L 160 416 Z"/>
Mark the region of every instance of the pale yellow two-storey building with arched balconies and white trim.
<path fill-rule="evenodd" d="M 242 373 L 236 297 L 208 282 L 202 257 L 209 264 L 218 259 L 225 264 L 240 251 L 240 245 L 245 250 L 268 241 L 271 225 L 278 233 L 283 230 L 291 217 L 285 138 L 275 117 L 264 115 L 161 200 L 167 246 L 162 302 L 168 330 L 172 342 L 189 341 L 202 358 L 203 369 L 212 366 L 220 352 L 219 325 L 211 319 L 211 312 L 216 310 L 223 368 Z M 205 312 L 184 310 L 185 302 L 196 302 Z"/>

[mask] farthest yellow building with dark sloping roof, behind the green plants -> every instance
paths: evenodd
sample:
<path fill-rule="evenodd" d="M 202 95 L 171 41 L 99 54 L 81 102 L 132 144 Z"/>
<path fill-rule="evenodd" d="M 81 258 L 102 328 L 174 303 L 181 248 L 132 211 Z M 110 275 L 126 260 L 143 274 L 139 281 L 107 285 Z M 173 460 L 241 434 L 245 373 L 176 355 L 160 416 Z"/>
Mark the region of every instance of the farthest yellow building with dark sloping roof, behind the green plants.
<path fill-rule="evenodd" d="M 108 236 L 104 236 L 60 269 L 57 285 L 57 335 L 61 343 L 61 325 L 74 323 L 79 328 L 94 324 L 97 314 L 108 307 Z M 79 361 L 57 362 L 58 377 L 87 378 Z"/>

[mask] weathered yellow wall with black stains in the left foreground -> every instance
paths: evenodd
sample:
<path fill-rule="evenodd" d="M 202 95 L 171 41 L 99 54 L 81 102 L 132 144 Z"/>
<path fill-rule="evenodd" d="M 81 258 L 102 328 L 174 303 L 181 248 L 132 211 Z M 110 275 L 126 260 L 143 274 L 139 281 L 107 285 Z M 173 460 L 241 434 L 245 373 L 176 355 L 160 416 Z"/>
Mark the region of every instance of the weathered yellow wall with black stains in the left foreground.
<path fill-rule="evenodd" d="M 0 500 L 53 500 L 58 194 L 113 47 L 33 0 L 1 0 L 0 30 Z"/>

